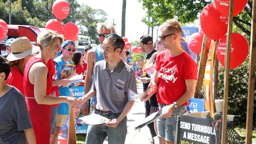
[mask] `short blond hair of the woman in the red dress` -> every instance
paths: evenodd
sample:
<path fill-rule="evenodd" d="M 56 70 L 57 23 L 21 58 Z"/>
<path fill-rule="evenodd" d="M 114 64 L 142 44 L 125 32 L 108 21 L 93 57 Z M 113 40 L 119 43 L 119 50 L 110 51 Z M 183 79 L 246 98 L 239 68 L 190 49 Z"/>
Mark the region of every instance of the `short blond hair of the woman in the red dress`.
<path fill-rule="evenodd" d="M 61 46 L 62 42 L 64 41 L 63 36 L 59 35 L 56 31 L 45 30 L 37 36 L 37 44 L 42 50 L 43 48 L 48 48 L 52 46 L 52 43 L 55 38 L 59 38 Z"/>

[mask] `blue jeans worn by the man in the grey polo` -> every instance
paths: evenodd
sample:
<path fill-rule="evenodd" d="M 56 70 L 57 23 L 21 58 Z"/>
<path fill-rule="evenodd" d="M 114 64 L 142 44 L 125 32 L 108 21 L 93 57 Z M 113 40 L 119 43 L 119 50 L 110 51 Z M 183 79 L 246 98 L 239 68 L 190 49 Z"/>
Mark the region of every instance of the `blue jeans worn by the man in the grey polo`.
<path fill-rule="evenodd" d="M 104 114 L 94 110 L 93 113 L 104 116 L 110 120 L 118 118 L 120 114 Z M 106 135 L 108 144 L 124 144 L 127 133 L 127 117 L 119 123 L 117 127 L 108 127 L 105 125 L 88 126 L 85 144 L 102 144 Z"/>

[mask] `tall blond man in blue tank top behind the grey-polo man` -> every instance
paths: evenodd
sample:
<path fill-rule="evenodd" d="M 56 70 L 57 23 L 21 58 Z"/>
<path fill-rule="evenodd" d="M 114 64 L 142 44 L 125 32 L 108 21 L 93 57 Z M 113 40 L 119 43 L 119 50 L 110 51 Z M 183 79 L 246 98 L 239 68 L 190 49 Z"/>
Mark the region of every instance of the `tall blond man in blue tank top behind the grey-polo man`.
<path fill-rule="evenodd" d="M 94 47 L 91 50 L 88 50 L 87 53 L 87 73 L 85 77 L 85 85 L 84 85 L 84 94 L 87 94 L 91 88 L 92 84 L 92 76 L 93 76 L 93 67 L 96 62 L 104 60 L 103 52 L 101 50 L 101 46 L 103 44 L 103 41 L 105 39 L 105 36 L 107 36 L 110 33 L 116 33 L 115 27 L 113 24 L 109 22 L 103 22 L 99 23 L 97 26 L 97 32 L 98 32 L 98 39 L 100 44 L 96 47 Z M 126 63 L 126 54 L 124 51 L 121 52 L 120 57 L 122 60 Z M 93 102 L 96 97 L 91 98 L 90 101 L 90 112 L 93 111 Z M 87 115 L 89 113 L 88 105 L 87 103 L 83 104 L 82 112 L 84 115 Z"/>

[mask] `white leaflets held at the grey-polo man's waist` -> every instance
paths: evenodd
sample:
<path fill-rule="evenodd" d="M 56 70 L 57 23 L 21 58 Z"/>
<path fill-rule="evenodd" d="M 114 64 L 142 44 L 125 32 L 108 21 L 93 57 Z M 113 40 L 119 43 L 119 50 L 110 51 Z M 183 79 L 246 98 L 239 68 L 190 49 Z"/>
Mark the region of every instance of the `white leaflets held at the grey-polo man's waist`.
<path fill-rule="evenodd" d="M 110 120 L 104 116 L 92 113 L 88 116 L 80 117 L 76 120 L 76 123 L 83 125 L 107 125 L 115 124 L 117 122 L 110 122 Z"/>

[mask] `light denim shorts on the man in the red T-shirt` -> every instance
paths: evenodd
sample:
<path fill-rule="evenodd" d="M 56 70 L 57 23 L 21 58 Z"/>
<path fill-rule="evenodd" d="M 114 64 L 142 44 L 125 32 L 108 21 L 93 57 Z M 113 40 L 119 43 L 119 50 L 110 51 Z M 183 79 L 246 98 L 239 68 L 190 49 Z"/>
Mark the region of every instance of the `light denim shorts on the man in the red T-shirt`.
<path fill-rule="evenodd" d="M 167 105 L 159 105 L 159 109 Z M 173 111 L 171 117 L 157 119 L 158 137 L 165 137 L 165 140 L 174 141 L 177 125 L 177 116 L 187 112 L 186 106 L 180 106 Z M 174 116 L 175 115 L 175 116 Z"/>

